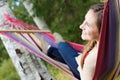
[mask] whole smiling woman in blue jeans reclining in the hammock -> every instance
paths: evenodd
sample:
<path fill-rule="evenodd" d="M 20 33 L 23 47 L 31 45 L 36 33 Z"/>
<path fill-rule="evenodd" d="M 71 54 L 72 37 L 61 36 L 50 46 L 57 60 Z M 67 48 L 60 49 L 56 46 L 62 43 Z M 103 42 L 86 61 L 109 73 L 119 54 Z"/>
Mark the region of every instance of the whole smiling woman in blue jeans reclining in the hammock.
<path fill-rule="evenodd" d="M 82 54 L 74 50 L 62 38 L 59 39 L 57 48 L 51 46 L 47 50 L 48 56 L 67 64 L 74 76 L 78 79 L 92 80 L 93 78 L 98 53 L 103 9 L 103 4 L 91 6 L 85 15 L 84 22 L 80 25 L 80 29 L 82 29 L 81 38 L 88 41 Z M 59 35 L 55 34 L 55 39 L 57 40 L 56 36 Z"/>

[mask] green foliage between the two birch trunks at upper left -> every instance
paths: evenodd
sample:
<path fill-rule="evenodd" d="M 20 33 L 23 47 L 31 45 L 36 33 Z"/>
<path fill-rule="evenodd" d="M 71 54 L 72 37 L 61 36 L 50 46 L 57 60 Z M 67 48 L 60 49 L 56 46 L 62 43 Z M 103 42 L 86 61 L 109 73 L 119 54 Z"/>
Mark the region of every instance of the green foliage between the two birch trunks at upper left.
<path fill-rule="evenodd" d="M 17 2 L 19 2 L 19 5 L 16 4 L 16 1 L 8 0 L 8 4 L 9 4 L 10 8 L 12 9 L 14 15 L 17 17 L 17 19 L 19 19 L 23 22 L 35 25 L 32 18 L 30 17 L 30 15 L 28 15 L 27 10 L 23 6 L 21 0 L 17 1 Z"/>

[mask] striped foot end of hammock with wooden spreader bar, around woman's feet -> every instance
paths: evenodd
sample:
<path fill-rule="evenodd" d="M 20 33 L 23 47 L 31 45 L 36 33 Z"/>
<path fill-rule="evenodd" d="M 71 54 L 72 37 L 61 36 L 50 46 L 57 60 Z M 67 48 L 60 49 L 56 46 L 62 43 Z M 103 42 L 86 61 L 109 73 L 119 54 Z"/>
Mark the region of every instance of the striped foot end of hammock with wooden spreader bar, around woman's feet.
<path fill-rule="evenodd" d="M 7 25 L 9 24 L 11 28 L 15 28 L 16 30 L 1 30 L 0 33 L 2 35 L 7 36 L 9 39 L 15 41 L 16 43 L 19 43 L 33 54 L 67 73 L 73 79 L 76 79 L 66 64 L 51 59 L 41 51 L 41 44 L 39 42 L 40 37 L 43 37 L 50 45 L 57 47 L 52 34 L 50 34 L 48 30 L 40 30 L 35 26 L 31 26 L 22 21 L 11 18 L 7 14 L 5 14 L 5 17 L 6 20 L 4 23 Z"/>

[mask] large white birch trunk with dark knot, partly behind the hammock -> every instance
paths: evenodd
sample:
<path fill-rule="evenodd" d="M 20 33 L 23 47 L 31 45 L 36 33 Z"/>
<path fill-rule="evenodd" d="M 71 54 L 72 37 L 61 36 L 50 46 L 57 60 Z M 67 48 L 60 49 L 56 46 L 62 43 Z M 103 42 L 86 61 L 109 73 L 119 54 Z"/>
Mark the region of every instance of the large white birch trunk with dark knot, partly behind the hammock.
<path fill-rule="evenodd" d="M 0 0 L 0 24 L 5 21 L 5 13 L 15 18 L 8 7 L 7 0 Z M 9 25 L 3 25 L 0 29 L 11 28 Z M 2 35 L 0 37 L 21 80 L 55 80 L 38 57 L 8 38 Z"/>

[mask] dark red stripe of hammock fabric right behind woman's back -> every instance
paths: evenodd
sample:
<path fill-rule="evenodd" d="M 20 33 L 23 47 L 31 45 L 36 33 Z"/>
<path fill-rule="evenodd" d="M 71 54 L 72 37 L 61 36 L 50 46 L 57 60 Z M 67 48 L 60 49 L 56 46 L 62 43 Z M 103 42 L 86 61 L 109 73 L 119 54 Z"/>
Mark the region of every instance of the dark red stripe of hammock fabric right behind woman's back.
<path fill-rule="evenodd" d="M 102 29 L 100 34 L 100 44 L 98 50 L 98 58 L 93 80 L 100 79 L 105 74 L 108 66 L 108 48 L 109 48 L 109 2 L 104 6 L 104 16 L 102 21 Z"/>

